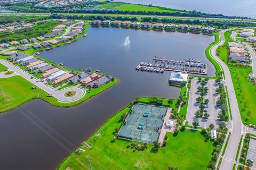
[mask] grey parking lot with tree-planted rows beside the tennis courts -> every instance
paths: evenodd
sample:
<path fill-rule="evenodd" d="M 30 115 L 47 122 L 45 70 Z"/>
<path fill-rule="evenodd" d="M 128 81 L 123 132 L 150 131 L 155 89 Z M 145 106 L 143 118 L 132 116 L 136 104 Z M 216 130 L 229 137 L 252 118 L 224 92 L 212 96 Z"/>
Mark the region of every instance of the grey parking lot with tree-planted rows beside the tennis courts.
<path fill-rule="evenodd" d="M 208 128 L 211 123 L 214 124 L 215 127 L 217 127 L 218 122 L 218 113 L 221 111 L 219 107 L 216 106 L 216 102 L 219 98 L 218 94 L 215 94 L 215 89 L 218 88 L 218 85 L 214 84 L 214 80 L 209 80 L 205 87 L 209 88 L 209 91 L 206 96 L 204 96 L 205 99 L 209 99 L 208 107 L 205 108 L 205 110 L 209 113 L 210 117 L 205 118 L 197 118 L 195 117 L 195 113 L 197 111 L 200 111 L 199 104 L 196 103 L 196 98 L 200 97 L 199 92 L 197 92 L 197 88 L 200 85 L 200 82 L 198 82 L 197 79 L 191 80 L 191 88 L 190 88 L 190 95 L 188 100 L 188 112 L 186 116 L 186 120 L 188 121 L 188 125 L 192 125 L 194 121 L 199 122 L 199 126 L 202 128 Z"/>

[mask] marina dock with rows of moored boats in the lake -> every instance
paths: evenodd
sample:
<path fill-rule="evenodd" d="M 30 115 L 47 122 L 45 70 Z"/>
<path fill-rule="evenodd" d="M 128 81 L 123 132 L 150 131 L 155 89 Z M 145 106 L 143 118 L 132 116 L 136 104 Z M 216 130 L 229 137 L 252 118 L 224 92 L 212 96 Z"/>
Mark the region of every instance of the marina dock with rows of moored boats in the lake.
<path fill-rule="evenodd" d="M 201 60 L 193 58 L 184 61 L 154 58 L 153 63 L 141 62 L 136 70 L 163 73 L 164 71 L 186 72 L 192 74 L 207 75 L 208 64 L 201 63 Z"/>

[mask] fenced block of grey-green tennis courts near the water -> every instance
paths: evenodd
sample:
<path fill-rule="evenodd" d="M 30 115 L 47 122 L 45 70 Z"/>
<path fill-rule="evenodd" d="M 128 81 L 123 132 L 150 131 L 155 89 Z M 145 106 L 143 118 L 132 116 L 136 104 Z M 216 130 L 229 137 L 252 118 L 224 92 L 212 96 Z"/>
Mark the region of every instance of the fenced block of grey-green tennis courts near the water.
<path fill-rule="evenodd" d="M 119 138 L 153 143 L 158 140 L 167 108 L 162 106 L 135 104 L 119 130 Z"/>

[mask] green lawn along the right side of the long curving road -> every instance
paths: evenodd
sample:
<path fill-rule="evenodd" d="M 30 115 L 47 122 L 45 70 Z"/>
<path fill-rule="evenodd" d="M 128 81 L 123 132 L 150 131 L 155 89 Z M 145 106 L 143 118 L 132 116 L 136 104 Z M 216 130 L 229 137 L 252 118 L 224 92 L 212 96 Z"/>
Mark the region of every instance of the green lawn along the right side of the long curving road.
<path fill-rule="evenodd" d="M 229 38 L 228 38 L 229 37 Z M 226 43 L 217 49 L 217 55 L 224 61 L 230 71 L 233 80 L 236 98 L 243 123 L 256 124 L 256 92 L 255 83 L 248 81 L 249 73 L 252 73 L 252 66 L 236 66 L 228 61 L 228 41 L 231 42 L 230 34 L 225 33 Z"/>

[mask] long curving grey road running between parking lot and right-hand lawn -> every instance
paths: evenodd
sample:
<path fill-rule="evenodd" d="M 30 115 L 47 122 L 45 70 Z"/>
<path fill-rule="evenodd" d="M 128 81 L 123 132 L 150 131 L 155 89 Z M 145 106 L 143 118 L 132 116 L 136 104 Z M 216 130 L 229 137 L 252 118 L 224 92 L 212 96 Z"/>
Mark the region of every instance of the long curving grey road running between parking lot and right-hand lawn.
<path fill-rule="evenodd" d="M 236 162 L 235 161 L 236 152 L 239 146 L 239 141 L 243 132 L 244 125 L 241 120 L 237 99 L 236 99 L 236 94 L 235 94 L 229 69 L 227 65 L 223 61 L 221 61 L 220 58 L 216 55 L 216 49 L 225 43 L 225 37 L 224 37 L 225 31 L 226 30 L 220 31 L 220 43 L 213 46 L 210 52 L 212 57 L 221 65 L 223 69 L 223 73 L 225 74 L 226 80 L 223 80 L 223 81 L 225 82 L 228 89 L 227 92 L 229 96 L 230 109 L 233 116 L 233 120 L 231 121 L 232 128 L 230 129 L 231 131 L 230 139 L 228 141 L 225 155 L 223 157 L 223 160 L 220 166 L 221 170 L 228 170 L 228 169 L 231 170 L 233 168 L 233 164 Z"/>

